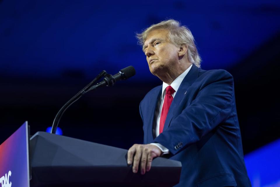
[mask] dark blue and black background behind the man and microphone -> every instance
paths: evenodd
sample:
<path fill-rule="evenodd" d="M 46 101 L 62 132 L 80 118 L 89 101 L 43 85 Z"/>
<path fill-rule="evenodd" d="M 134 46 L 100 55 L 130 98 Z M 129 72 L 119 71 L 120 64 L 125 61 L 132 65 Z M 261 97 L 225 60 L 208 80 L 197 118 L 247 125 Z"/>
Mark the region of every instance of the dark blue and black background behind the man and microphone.
<path fill-rule="evenodd" d="M 192 31 L 202 69 L 234 76 L 244 153 L 280 137 L 280 1 L 0 0 L 0 142 L 24 121 L 45 131 L 101 70 L 136 75 L 87 93 L 63 115 L 63 135 L 128 149 L 142 143 L 139 103 L 162 84 L 135 32 L 173 18 Z"/>

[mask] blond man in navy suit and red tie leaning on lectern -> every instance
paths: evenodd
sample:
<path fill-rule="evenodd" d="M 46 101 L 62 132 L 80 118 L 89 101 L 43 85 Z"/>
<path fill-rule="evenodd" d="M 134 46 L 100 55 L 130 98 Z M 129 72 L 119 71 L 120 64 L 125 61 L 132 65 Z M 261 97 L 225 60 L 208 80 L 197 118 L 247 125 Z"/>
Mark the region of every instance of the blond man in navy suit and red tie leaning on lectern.
<path fill-rule="evenodd" d="M 153 158 L 165 155 L 182 163 L 176 186 L 251 186 L 232 75 L 200 69 L 192 33 L 175 20 L 152 25 L 137 37 L 150 72 L 163 84 L 140 103 L 144 144 L 128 150 L 133 172 L 145 174 Z"/>

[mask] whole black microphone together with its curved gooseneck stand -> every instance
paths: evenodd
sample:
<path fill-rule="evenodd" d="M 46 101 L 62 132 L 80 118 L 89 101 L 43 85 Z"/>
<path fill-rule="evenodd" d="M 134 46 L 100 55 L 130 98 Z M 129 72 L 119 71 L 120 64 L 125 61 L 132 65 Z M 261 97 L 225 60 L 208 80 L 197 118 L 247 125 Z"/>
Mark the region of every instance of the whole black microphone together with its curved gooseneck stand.
<path fill-rule="evenodd" d="M 75 101 L 77 101 L 81 96 L 83 96 L 83 94 L 87 93 L 88 91 L 97 89 L 98 87 L 101 87 L 101 86 L 113 86 L 113 85 L 115 85 L 116 81 L 128 79 L 134 75 L 135 75 L 135 69 L 133 66 L 125 67 L 115 75 L 109 75 L 109 74 L 107 74 L 107 72 L 105 70 L 103 70 L 101 73 L 99 73 L 99 75 L 97 75 L 97 77 L 95 77 L 95 79 L 92 80 L 92 82 L 90 82 L 90 84 L 85 86 L 81 91 L 79 91 L 74 97 L 72 97 L 69 101 L 67 101 L 67 103 L 65 103 L 62 106 L 62 108 L 57 112 L 57 115 L 55 116 L 55 119 L 53 121 L 53 126 L 52 126 L 50 133 L 55 134 L 58 123 L 60 121 L 60 118 L 63 115 L 63 113 L 65 112 L 65 110 L 70 105 L 72 105 Z M 95 84 L 95 82 L 103 76 L 104 76 L 103 81 Z M 95 85 L 93 85 L 93 84 L 95 84 Z"/>

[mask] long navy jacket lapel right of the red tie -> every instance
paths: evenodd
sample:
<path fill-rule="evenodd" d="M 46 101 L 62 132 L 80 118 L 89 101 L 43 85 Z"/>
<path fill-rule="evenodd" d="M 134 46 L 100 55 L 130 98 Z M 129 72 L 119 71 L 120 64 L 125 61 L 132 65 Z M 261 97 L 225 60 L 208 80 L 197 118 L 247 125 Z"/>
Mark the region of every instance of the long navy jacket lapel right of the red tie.
<path fill-rule="evenodd" d="M 180 84 L 180 86 L 174 96 L 174 99 L 170 105 L 170 108 L 169 108 L 169 111 L 168 111 L 168 114 L 167 114 L 167 117 L 166 117 L 166 120 L 164 123 L 163 131 L 165 131 L 169 127 L 170 122 L 173 118 L 174 110 L 177 108 L 177 106 L 181 102 L 183 96 L 188 91 L 190 85 L 192 85 L 192 83 L 197 79 L 198 72 L 199 72 L 199 68 L 193 64 L 190 71 L 183 79 L 182 83 Z"/>

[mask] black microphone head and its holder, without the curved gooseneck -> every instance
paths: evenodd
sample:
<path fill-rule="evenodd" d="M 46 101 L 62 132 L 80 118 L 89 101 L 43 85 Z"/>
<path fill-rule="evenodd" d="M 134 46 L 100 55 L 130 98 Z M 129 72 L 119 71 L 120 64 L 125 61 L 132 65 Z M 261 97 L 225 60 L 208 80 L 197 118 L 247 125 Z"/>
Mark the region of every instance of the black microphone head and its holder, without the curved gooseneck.
<path fill-rule="evenodd" d="M 121 69 L 115 75 L 109 75 L 109 74 L 105 75 L 103 81 L 90 87 L 90 89 L 88 89 L 87 92 L 97 89 L 98 87 L 101 87 L 101 86 L 114 86 L 117 81 L 128 79 L 128 78 L 134 76 L 135 73 L 136 73 L 135 69 L 132 65 L 127 66 L 127 67 Z"/>

